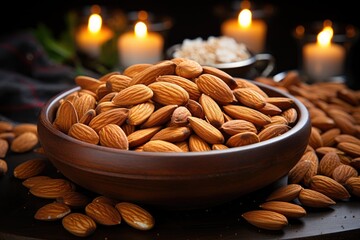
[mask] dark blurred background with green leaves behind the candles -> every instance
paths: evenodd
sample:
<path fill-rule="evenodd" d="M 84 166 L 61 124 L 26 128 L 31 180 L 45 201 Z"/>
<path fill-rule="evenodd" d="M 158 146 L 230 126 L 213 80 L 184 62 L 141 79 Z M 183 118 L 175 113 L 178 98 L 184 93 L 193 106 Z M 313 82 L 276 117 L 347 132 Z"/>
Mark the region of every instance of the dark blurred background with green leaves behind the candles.
<path fill-rule="evenodd" d="M 331 20 L 334 36 L 338 36 L 334 40 L 346 45 L 346 84 L 353 89 L 360 88 L 358 38 L 360 17 L 358 8 L 355 6 L 356 1 L 253 0 L 250 2 L 253 16 L 264 20 L 267 24 L 263 52 L 270 53 L 275 58 L 275 69 L 272 75 L 302 68 L 303 42 L 300 41 L 299 36 L 295 35 L 295 29 L 302 26 L 299 28 L 303 30 L 302 33 L 300 31 L 300 36 L 307 35 L 310 34 L 309 29 L 318 31 L 319 24 L 321 25 L 325 20 Z M 30 79 L 26 80 L 30 83 L 34 83 L 33 79 L 35 81 L 38 79 L 41 81 L 58 80 L 60 76 L 61 79 L 68 80 L 68 85 L 57 86 L 49 91 L 48 85 L 38 87 L 38 82 L 33 85 L 28 84 L 28 88 L 21 91 L 28 93 L 31 89 L 37 90 L 38 102 L 34 102 L 35 94 L 33 94 L 21 101 L 21 103 L 33 101 L 27 106 L 19 107 L 14 104 L 12 107 L 0 104 L 0 114 L 22 120 L 19 116 L 24 113 L 24 109 L 31 110 L 34 106 L 40 108 L 48 98 L 69 87 L 69 82 L 73 84 L 74 73 L 99 76 L 118 70 L 117 37 L 133 28 L 138 11 L 146 11 L 149 21 L 153 23 L 150 30 L 162 34 L 165 54 L 166 49 L 174 44 L 182 43 L 184 39 L 198 37 L 206 39 L 209 36 L 221 35 L 222 23 L 227 19 L 237 17 L 241 3 L 242 1 L 235 0 L 8 1 L 7 6 L 2 8 L 3 13 L 0 14 L 0 78 L 2 80 L 8 78 L 6 81 L 0 81 L 1 101 L 12 100 L 17 95 L 17 92 L 13 91 L 15 84 L 11 85 L 12 82 L 24 82 L 23 79 L 19 80 L 19 75 L 9 77 L 10 70 L 29 77 Z M 94 5 L 101 7 L 103 24 L 114 31 L 112 40 L 104 44 L 101 56 L 95 60 L 79 52 L 74 45 L 76 28 L 86 23 L 91 7 Z M 313 32 L 313 36 L 316 31 Z M 38 61 L 36 65 L 31 65 L 37 67 L 35 71 L 34 68 L 29 67 L 34 59 Z M 60 63 L 65 68 L 49 71 L 47 68 L 51 66 L 49 61 Z"/>

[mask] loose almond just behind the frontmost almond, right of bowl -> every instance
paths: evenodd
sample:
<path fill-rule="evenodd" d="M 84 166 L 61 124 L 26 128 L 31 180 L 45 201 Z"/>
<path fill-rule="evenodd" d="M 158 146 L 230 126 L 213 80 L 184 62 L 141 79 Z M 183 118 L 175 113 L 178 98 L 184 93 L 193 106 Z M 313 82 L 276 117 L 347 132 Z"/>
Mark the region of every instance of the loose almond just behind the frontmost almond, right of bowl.
<path fill-rule="evenodd" d="M 259 207 L 281 213 L 287 218 L 301 218 L 306 215 L 306 210 L 303 207 L 286 201 L 268 201 L 260 204 Z"/>

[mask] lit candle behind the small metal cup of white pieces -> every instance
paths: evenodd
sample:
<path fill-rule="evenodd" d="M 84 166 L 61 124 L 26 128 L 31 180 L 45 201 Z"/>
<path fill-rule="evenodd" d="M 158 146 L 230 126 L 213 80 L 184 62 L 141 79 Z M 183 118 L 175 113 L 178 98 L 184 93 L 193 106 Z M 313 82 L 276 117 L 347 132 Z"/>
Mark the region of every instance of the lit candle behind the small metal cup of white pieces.
<path fill-rule="evenodd" d="M 221 32 L 244 43 L 253 53 L 260 53 L 264 50 L 267 25 L 260 19 L 253 19 L 248 6 L 245 7 L 238 19 L 229 19 L 221 25 Z"/>

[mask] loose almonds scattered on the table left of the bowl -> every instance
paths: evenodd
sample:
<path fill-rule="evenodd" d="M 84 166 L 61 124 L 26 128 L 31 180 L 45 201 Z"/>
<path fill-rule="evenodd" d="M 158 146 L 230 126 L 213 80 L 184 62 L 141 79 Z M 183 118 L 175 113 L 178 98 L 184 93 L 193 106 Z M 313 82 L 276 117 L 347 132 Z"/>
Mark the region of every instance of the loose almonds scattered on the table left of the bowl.
<path fill-rule="evenodd" d="M 113 226 L 122 221 L 138 230 L 154 227 L 154 217 L 139 205 L 102 195 L 91 199 L 77 191 L 76 184 L 68 179 L 42 175 L 50 162 L 43 157 L 36 124 L 0 121 L 0 158 L 3 158 L 0 159 L 0 176 L 8 172 L 4 159 L 9 151 L 15 154 L 34 151 L 42 156 L 26 160 L 13 170 L 13 176 L 22 181 L 30 194 L 50 201 L 34 213 L 35 219 L 61 220 L 64 229 L 79 237 L 89 236 L 97 225 Z"/>

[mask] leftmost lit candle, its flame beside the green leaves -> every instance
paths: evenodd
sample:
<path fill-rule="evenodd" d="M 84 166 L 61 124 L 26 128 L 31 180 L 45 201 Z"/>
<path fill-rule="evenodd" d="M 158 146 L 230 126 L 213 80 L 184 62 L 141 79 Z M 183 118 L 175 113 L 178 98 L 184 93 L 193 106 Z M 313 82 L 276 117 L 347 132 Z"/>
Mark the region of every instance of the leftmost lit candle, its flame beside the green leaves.
<path fill-rule="evenodd" d="M 102 24 L 102 18 L 98 13 L 90 15 L 88 24 L 81 26 L 76 34 L 76 43 L 79 49 L 90 57 L 98 57 L 101 46 L 112 38 L 113 32 Z"/>

